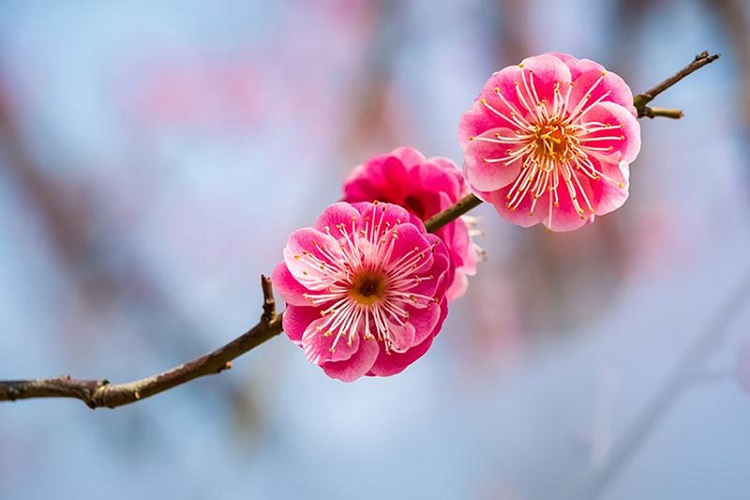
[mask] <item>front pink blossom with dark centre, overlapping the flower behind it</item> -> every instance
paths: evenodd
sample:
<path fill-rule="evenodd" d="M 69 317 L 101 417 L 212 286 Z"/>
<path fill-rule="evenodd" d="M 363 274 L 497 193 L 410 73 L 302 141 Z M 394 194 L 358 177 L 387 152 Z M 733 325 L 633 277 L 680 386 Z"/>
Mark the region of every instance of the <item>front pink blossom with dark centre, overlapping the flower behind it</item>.
<path fill-rule="evenodd" d="M 346 382 L 403 371 L 448 314 L 448 251 L 405 209 L 335 203 L 295 231 L 273 272 L 283 326 L 310 362 Z"/>

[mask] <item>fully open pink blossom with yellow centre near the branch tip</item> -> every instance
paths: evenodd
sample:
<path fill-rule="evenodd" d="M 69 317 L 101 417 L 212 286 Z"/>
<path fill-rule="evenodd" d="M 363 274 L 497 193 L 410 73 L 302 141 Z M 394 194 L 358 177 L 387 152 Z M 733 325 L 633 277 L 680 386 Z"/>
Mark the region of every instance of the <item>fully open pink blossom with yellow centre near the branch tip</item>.
<path fill-rule="evenodd" d="M 504 68 L 461 117 L 474 193 L 523 227 L 570 231 L 628 197 L 641 146 L 633 95 L 587 59 L 548 53 Z"/>

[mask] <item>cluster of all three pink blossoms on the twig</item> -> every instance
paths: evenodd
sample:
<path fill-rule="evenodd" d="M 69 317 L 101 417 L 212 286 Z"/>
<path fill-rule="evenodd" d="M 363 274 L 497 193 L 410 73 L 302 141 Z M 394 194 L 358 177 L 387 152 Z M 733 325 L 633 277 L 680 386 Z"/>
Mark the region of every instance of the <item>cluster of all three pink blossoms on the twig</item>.
<path fill-rule="evenodd" d="M 593 61 L 547 53 L 496 72 L 460 119 L 463 169 L 409 147 L 375 156 L 289 237 L 273 272 L 288 337 L 333 378 L 403 371 L 476 272 L 470 224 L 425 221 L 476 196 L 522 227 L 593 222 L 627 199 L 636 117 L 627 84 Z"/>

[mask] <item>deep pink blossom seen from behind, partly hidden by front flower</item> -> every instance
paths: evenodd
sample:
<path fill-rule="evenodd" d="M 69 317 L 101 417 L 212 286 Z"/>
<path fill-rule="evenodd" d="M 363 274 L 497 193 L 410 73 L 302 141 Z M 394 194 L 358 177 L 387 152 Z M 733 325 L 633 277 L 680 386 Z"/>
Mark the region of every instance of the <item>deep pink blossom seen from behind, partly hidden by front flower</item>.
<path fill-rule="evenodd" d="M 413 148 L 402 147 L 358 165 L 344 182 L 344 201 L 395 203 L 425 221 L 467 194 L 461 171 L 447 158 L 425 159 Z M 446 296 L 455 300 L 466 292 L 467 276 L 476 273 L 477 251 L 461 219 L 437 234 L 448 247 L 455 274 Z"/>

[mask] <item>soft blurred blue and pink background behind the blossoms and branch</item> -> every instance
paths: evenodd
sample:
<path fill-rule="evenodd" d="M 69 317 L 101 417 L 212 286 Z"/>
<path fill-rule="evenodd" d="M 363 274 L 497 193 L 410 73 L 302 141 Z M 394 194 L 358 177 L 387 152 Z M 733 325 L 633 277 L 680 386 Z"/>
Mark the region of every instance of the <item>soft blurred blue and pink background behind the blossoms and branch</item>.
<path fill-rule="evenodd" d="M 460 164 L 503 66 L 568 52 L 637 93 L 723 56 L 641 121 L 622 209 L 475 211 L 487 260 L 403 374 L 333 381 L 280 336 L 116 410 L 2 403 L 0 498 L 747 498 L 749 29 L 742 0 L 4 0 L 0 379 L 124 382 L 243 333 L 350 169 Z"/>

